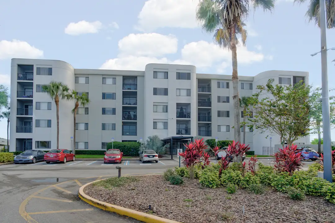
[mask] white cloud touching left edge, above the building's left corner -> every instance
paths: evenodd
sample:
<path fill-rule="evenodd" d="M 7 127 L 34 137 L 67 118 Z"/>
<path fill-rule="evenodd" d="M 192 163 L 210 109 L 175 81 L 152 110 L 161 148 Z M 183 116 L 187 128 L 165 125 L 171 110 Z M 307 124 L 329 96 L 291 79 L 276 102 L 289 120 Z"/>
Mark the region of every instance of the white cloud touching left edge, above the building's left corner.
<path fill-rule="evenodd" d="M 43 50 L 31 46 L 25 41 L 13 39 L 0 41 L 0 60 L 11 58 L 37 59 L 43 57 Z"/>

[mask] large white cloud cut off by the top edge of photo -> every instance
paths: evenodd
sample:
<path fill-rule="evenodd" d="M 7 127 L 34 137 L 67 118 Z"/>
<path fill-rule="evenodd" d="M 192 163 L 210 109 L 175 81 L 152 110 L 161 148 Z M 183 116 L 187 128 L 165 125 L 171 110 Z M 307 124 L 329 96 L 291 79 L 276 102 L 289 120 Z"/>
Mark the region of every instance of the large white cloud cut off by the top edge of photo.
<path fill-rule="evenodd" d="M 148 0 L 138 15 L 140 31 L 153 31 L 159 27 L 198 27 L 197 0 Z"/>

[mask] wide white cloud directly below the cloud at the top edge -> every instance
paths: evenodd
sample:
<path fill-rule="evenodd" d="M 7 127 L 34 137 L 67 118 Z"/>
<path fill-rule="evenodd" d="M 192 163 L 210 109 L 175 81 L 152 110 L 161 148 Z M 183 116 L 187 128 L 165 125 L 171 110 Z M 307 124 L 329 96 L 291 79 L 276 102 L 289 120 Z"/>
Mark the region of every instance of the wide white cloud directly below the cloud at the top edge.
<path fill-rule="evenodd" d="M 158 33 L 129 34 L 119 41 L 119 56 L 135 55 L 157 57 L 176 53 L 178 39 Z"/>

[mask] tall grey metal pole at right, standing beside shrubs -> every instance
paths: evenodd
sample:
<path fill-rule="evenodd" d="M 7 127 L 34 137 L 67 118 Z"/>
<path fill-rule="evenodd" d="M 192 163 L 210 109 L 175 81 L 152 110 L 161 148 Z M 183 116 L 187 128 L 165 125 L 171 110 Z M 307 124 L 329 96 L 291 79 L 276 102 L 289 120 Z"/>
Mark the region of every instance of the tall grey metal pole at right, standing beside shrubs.
<path fill-rule="evenodd" d="M 327 41 L 326 41 L 326 10 L 325 0 L 320 0 L 320 29 L 321 29 L 321 72 L 322 72 L 322 126 L 323 126 L 323 171 L 324 179 L 329 182 L 332 178 L 332 154 L 329 113 L 329 89 L 327 74 Z"/>

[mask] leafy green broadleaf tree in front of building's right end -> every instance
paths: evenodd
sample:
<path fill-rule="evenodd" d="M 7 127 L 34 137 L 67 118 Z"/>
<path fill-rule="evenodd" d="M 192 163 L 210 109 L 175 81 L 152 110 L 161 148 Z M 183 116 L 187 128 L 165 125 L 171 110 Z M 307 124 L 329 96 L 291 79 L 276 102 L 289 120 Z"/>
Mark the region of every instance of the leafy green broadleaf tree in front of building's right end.
<path fill-rule="evenodd" d="M 291 145 L 310 132 L 310 87 L 302 83 L 273 86 L 273 81 L 257 86 L 258 93 L 252 97 L 253 118 L 248 118 L 251 124 L 247 126 L 278 134 L 281 144 Z"/>

